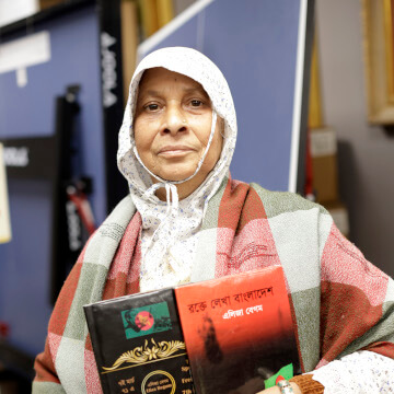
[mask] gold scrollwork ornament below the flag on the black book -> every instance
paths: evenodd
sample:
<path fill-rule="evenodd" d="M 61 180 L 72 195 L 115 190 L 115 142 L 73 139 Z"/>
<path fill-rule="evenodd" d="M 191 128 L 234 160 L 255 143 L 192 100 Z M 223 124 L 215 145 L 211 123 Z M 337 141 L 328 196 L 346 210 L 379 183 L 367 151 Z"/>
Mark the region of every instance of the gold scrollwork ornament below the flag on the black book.
<path fill-rule="evenodd" d="M 148 339 L 144 341 L 144 346 L 136 347 L 134 350 L 124 352 L 112 367 L 102 367 L 105 372 L 112 372 L 120 367 L 125 367 L 125 363 L 131 364 L 142 364 L 149 361 L 154 361 L 159 359 L 165 359 L 177 352 L 178 350 L 186 349 L 185 343 L 181 340 L 171 340 L 171 341 L 161 341 L 157 344 L 153 338 L 151 338 L 153 344 L 152 347 L 148 346 Z M 181 355 L 179 355 L 181 356 Z M 127 368 L 127 367 L 126 367 Z"/>

